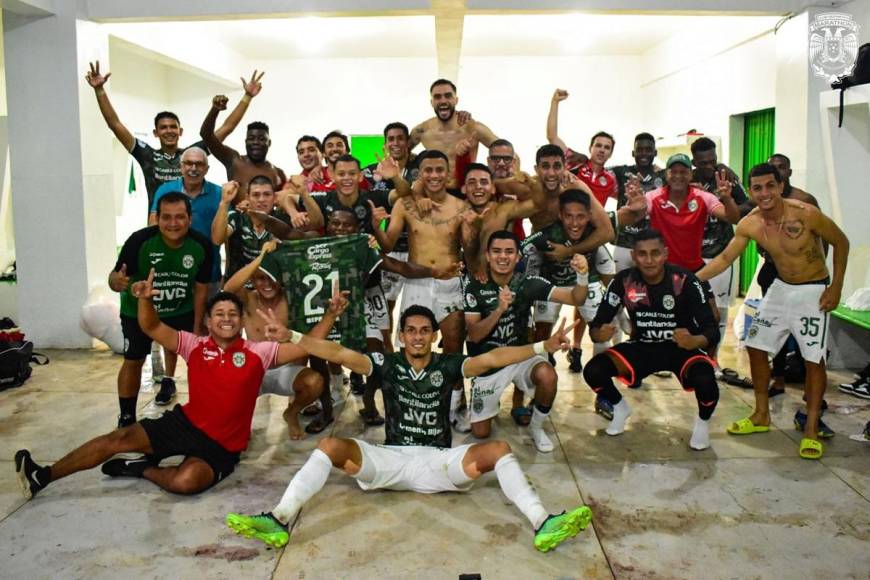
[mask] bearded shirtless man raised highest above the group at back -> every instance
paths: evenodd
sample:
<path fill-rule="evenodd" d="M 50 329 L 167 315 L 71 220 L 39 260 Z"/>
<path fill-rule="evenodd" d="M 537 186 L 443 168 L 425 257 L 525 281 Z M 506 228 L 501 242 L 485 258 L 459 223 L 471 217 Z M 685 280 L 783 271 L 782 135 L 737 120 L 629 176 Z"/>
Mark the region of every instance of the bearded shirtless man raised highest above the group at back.
<path fill-rule="evenodd" d="M 447 188 L 458 191 L 465 173 L 463 165 L 477 158 L 477 145 L 489 147 L 498 137 L 483 123 L 471 120 L 467 113 L 456 114 L 456 85 L 438 79 L 429 87 L 435 116 L 411 130 L 408 147 L 422 143 L 427 150 L 443 151 L 450 164 Z M 460 161 L 457 164 L 457 160 Z"/>

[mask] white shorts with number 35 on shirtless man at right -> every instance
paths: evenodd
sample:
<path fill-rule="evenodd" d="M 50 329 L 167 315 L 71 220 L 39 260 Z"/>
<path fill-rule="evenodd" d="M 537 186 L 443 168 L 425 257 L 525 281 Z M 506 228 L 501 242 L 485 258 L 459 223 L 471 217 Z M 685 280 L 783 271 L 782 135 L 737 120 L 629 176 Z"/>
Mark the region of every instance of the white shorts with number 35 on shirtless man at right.
<path fill-rule="evenodd" d="M 777 278 L 752 319 L 746 346 L 776 354 L 788 335 L 797 340 L 801 356 L 811 363 L 825 359 L 829 314 L 819 310 L 826 285 L 787 284 Z"/>

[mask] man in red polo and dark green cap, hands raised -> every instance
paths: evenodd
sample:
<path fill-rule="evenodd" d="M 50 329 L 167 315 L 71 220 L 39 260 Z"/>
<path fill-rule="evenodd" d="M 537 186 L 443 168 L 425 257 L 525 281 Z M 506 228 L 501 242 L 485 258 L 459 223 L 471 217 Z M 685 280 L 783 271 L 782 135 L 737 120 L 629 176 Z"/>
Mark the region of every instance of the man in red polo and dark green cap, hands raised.
<path fill-rule="evenodd" d="M 740 210 L 724 174 L 716 175 L 717 198 L 690 185 L 692 161 L 688 155 L 671 155 L 666 168 L 668 183 L 664 187 L 644 194 L 637 179 L 626 185 L 628 203 L 619 209 L 617 219 L 620 225 L 631 225 L 649 214 L 651 227 L 665 238 L 668 262 L 697 272 L 704 267 L 701 242 L 707 218 L 712 215 L 734 224 L 740 219 Z"/>

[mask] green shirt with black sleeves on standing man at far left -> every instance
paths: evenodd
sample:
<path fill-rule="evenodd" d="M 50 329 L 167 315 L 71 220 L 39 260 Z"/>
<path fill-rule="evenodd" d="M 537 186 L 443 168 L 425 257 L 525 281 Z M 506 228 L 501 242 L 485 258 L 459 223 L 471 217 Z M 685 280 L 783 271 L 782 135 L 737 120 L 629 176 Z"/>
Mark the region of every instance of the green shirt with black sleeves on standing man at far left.
<path fill-rule="evenodd" d="M 121 315 L 136 318 L 139 301 L 131 293 L 133 284 L 148 278 L 154 268 L 154 309 L 160 318 L 172 318 L 193 311 L 193 290 L 196 283 L 208 284 L 211 279 L 211 240 L 189 230 L 178 248 L 163 241 L 158 226 L 141 229 L 127 238 L 115 264 L 115 271 L 127 265 L 130 285 L 121 292 Z"/>

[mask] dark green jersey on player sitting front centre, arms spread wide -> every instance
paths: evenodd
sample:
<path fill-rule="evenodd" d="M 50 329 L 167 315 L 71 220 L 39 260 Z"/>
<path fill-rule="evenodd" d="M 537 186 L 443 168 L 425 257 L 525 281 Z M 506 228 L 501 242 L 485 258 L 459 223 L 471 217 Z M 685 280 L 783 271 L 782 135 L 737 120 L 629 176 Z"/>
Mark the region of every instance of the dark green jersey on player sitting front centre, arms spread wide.
<path fill-rule="evenodd" d="M 450 392 L 463 378 L 468 357 L 433 352 L 432 360 L 418 373 L 405 358 L 404 349 L 366 356 L 372 361 L 372 375 L 381 380 L 385 443 L 450 447 Z"/>

